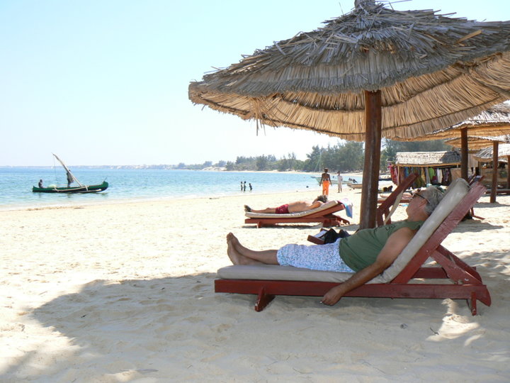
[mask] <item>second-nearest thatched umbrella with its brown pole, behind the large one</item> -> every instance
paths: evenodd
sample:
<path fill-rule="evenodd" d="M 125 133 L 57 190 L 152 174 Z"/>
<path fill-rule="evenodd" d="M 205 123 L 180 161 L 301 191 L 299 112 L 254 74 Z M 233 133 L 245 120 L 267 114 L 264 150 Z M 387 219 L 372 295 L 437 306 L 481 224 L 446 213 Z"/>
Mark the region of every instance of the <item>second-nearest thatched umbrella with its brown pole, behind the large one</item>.
<path fill-rule="evenodd" d="M 415 140 L 440 140 L 441 138 L 458 138 L 462 153 L 462 164 L 460 165 L 462 177 L 467 179 L 467 152 L 471 143 L 476 140 L 469 136 L 498 136 L 510 134 L 510 103 L 506 101 L 497 104 L 477 116 L 467 118 L 467 120 L 456 123 L 448 128 L 438 129 L 429 134 L 416 138 Z M 452 141 L 450 141 L 450 145 Z M 489 145 L 489 144 L 487 144 Z M 487 146 L 485 145 L 485 146 Z M 480 146 L 478 146 L 480 148 Z"/>

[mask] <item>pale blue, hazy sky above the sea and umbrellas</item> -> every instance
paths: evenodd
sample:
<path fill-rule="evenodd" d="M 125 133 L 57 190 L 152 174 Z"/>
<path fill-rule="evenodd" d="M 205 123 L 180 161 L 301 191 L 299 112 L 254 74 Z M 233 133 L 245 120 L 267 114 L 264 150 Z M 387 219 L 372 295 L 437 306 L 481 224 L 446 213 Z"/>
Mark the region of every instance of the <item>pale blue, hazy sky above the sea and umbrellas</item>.
<path fill-rule="evenodd" d="M 315 30 L 353 0 L 0 0 L 0 166 L 201 164 L 337 138 L 193 105 L 188 84 Z M 508 0 L 394 1 L 510 20 Z"/>

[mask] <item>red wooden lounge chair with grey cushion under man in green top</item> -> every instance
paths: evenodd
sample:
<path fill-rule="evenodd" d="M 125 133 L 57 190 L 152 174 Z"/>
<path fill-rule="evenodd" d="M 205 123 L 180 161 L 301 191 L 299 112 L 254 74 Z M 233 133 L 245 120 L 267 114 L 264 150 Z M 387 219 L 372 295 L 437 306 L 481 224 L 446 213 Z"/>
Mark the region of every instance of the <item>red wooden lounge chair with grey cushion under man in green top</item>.
<path fill-rule="evenodd" d="M 441 245 L 485 193 L 485 187 L 477 183 L 469 189 L 463 179 L 458 179 L 449 189 L 397 260 L 382 274 L 345 296 L 467 299 L 472 315 L 477 313 L 477 300 L 490 306 L 489 291 L 475 267 L 468 266 Z M 429 257 L 437 265 L 424 267 Z M 263 310 L 276 295 L 323 296 L 352 275 L 275 265 L 228 266 L 217 274 L 215 292 L 256 294 L 256 311 Z M 442 281 L 426 283 L 414 279 Z"/>

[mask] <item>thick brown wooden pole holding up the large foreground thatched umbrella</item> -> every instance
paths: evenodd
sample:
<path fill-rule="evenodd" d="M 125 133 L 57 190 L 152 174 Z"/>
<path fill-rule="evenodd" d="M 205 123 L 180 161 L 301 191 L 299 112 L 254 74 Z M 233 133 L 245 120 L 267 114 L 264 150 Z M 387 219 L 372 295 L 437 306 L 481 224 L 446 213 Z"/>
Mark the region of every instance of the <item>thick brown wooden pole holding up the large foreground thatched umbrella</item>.
<path fill-rule="evenodd" d="M 382 127 L 381 92 L 365 91 L 365 162 L 361 189 L 360 228 L 375 227 L 377 209 L 380 142 Z"/>

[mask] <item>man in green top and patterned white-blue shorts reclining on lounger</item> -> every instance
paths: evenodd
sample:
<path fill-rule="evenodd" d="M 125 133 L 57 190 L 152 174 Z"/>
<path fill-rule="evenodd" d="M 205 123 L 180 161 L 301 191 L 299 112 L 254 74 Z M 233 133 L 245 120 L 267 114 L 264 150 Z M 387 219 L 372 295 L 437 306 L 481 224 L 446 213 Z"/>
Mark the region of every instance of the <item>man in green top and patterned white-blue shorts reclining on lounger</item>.
<path fill-rule="evenodd" d="M 234 234 L 227 235 L 227 254 L 234 265 L 283 265 L 311 270 L 353 272 L 343 284 L 324 294 L 321 303 L 333 305 L 352 289 L 382 273 L 414 237 L 443 199 L 443 191 L 428 187 L 414 194 L 407 219 L 378 228 L 360 230 L 327 245 L 285 245 L 279 250 L 250 250 Z"/>

